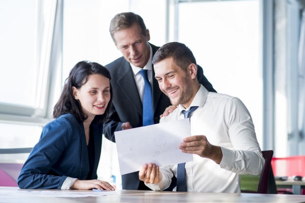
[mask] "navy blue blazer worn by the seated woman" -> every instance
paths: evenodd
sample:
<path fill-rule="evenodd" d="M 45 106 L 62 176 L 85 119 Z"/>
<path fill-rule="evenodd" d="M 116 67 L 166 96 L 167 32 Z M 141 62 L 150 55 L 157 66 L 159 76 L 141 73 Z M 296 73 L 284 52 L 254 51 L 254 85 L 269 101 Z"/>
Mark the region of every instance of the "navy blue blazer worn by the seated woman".
<path fill-rule="evenodd" d="M 103 124 L 92 124 L 95 161 L 91 179 L 97 179 Z M 61 189 L 67 177 L 86 180 L 89 159 L 84 126 L 72 114 L 59 116 L 44 126 L 39 142 L 18 177 L 23 189 Z"/>

